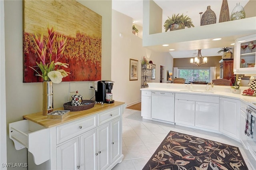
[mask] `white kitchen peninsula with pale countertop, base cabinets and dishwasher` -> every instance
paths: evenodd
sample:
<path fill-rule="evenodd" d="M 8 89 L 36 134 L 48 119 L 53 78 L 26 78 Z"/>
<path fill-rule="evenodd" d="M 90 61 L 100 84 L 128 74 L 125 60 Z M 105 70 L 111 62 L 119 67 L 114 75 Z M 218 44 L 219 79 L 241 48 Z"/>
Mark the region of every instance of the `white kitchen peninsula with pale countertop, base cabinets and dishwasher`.
<path fill-rule="evenodd" d="M 244 134 L 246 109 L 256 111 L 256 97 L 232 93 L 230 86 L 206 90 L 206 85 L 148 83 L 148 88 L 140 90 L 143 119 L 228 136 L 248 149 L 246 154 L 256 168 L 256 140 Z"/>

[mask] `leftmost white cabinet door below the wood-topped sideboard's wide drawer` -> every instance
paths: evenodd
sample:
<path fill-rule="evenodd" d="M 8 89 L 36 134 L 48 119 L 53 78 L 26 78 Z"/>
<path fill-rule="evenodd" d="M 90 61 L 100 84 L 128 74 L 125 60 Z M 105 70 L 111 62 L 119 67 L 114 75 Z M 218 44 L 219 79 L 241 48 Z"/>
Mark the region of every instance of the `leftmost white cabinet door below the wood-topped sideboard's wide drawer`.
<path fill-rule="evenodd" d="M 79 169 L 79 138 L 75 138 L 57 147 L 57 169 Z"/>

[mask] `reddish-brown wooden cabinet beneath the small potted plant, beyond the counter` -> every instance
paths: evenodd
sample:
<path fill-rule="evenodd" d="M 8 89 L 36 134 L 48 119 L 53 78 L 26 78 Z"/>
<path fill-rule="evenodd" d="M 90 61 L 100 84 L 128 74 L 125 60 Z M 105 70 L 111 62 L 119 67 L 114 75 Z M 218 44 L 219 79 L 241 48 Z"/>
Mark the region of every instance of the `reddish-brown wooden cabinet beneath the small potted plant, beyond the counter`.
<path fill-rule="evenodd" d="M 220 78 L 227 79 L 232 81 L 232 84 L 235 83 L 234 77 L 234 59 L 222 59 L 220 62 Z"/>

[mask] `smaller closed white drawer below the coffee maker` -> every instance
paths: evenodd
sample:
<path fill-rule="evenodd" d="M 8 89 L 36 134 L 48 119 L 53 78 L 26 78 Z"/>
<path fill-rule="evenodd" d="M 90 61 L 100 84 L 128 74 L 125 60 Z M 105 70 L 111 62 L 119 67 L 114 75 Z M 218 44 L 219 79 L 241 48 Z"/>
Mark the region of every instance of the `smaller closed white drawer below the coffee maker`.
<path fill-rule="evenodd" d="M 120 117 L 120 107 L 112 109 L 110 111 L 98 113 L 98 125 L 103 125 L 113 119 Z"/>

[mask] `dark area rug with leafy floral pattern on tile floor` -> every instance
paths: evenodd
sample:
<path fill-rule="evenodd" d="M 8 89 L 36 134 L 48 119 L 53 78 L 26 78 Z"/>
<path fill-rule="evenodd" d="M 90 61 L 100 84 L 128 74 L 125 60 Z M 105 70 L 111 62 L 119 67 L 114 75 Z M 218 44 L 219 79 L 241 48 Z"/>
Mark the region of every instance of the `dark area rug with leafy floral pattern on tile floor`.
<path fill-rule="evenodd" d="M 170 131 L 143 170 L 248 170 L 238 147 Z"/>

